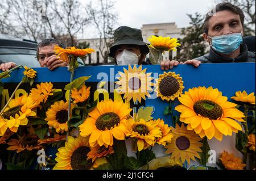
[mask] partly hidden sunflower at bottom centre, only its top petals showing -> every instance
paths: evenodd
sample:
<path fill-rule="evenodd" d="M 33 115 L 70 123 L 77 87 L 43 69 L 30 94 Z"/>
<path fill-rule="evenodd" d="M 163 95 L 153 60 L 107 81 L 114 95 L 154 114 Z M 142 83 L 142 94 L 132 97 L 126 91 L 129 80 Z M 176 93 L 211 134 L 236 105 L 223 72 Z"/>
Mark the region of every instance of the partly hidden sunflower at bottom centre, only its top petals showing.
<path fill-rule="evenodd" d="M 183 167 L 183 164 L 180 160 L 175 161 L 175 159 L 167 157 L 158 157 L 152 159 L 148 162 L 148 170 L 163 170 L 163 169 L 175 169 L 177 167 Z M 185 169 L 183 167 L 183 169 Z M 139 168 L 139 170 L 147 170 L 147 165 Z"/>

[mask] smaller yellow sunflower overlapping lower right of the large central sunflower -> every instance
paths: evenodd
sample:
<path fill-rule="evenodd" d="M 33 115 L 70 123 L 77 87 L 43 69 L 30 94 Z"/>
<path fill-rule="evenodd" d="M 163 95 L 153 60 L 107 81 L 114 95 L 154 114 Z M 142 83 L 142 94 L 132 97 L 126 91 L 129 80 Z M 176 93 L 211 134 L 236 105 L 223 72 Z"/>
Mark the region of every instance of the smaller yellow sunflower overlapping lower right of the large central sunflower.
<path fill-rule="evenodd" d="M 154 146 L 156 138 L 161 138 L 162 133 L 155 121 L 129 119 L 127 120 L 126 136 L 137 138 L 137 148 L 138 151 L 141 151 Z"/>

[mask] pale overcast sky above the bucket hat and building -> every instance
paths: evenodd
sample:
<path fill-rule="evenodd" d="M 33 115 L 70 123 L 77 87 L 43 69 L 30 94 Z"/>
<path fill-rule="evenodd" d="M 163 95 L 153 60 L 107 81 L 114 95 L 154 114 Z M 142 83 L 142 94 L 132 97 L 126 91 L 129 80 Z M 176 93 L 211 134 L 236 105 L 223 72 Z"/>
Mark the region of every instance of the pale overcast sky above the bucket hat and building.
<path fill-rule="evenodd" d="M 189 26 L 186 14 L 205 15 L 216 5 L 214 0 L 115 0 L 115 11 L 118 12 L 119 26 L 142 28 L 143 24 L 175 22 L 178 28 Z M 93 38 L 93 34 L 84 35 Z M 88 37 L 91 36 L 91 37 Z"/>

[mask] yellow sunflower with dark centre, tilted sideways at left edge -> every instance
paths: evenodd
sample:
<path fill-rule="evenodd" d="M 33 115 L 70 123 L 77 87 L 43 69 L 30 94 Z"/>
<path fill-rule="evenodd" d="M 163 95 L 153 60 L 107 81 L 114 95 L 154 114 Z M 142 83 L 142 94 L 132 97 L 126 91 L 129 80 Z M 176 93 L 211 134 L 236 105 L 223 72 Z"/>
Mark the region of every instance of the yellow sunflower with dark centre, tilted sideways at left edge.
<path fill-rule="evenodd" d="M 31 110 L 35 106 L 36 104 L 27 94 L 11 99 L 0 117 L 0 136 L 5 133 L 7 128 L 16 133 L 20 125 L 27 125 L 28 117 L 36 115 Z"/>

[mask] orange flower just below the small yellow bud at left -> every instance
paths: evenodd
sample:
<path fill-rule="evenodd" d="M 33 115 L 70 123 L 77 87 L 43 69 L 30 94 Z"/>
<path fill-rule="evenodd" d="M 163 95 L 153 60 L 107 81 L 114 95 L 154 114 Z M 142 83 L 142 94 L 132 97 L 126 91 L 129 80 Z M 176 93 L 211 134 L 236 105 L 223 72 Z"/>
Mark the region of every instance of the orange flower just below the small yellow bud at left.
<path fill-rule="evenodd" d="M 36 104 L 40 104 L 42 102 L 46 103 L 48 96 L 53 95 L 52 89 L 53 85 L 51 82 L 40 83 L 40 85 L 36 85 L 37 89 L 33 88 L 31 90 L 31 98 Z"/>

